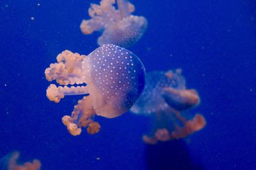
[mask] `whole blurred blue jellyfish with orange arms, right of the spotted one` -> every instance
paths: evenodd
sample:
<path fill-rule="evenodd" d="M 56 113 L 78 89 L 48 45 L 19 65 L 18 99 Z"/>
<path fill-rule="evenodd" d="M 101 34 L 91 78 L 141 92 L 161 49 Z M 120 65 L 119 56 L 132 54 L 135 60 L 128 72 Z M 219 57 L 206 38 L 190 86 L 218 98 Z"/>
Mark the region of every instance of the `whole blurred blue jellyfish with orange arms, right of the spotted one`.
<path fill-rule="evenodd" d="M 154 128 L 143 136 L 143 141 L 156 144 L 157 141 L 185 138 L 204 128 L 202 115 L 196 114 L 189 120 L 182 115 L 199 103 L 196 90 L 186 89 L 181 69 L 153 71 L 147 73 L 145 90 L 130 111 L 154 118 Z"/>

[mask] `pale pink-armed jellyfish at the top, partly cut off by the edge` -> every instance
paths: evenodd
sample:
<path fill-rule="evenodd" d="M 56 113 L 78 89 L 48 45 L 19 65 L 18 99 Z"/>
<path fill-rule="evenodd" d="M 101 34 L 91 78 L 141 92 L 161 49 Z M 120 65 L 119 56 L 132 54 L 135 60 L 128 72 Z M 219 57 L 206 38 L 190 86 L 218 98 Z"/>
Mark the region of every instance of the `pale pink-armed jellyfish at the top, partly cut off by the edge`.
<path fill-rule="evenodd" d="M 127 48 L 134 45 L 147 29 L 147 19 L 131 15 L 134 10 L 127 0 L 102 0 L 99 5 L 91 5 L 88 13 L 92 18 L 83 20 L 81 31 L 83 34 L 102 31 L 98 45 L 112 43 Z"/>

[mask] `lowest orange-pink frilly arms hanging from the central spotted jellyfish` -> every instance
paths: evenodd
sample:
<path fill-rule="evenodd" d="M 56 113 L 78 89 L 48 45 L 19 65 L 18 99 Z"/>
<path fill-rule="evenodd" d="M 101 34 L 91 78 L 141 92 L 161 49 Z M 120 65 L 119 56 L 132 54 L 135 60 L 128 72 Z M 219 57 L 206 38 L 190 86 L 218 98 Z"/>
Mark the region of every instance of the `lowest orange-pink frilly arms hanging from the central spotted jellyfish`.
<path fill-rule="evenodd" d="M 73 136 L 81 134 L 81 127 L 87 127 L 89 134 L 95 134 L 100 131 L 100 125 L 98 122 L 93 122 L 95 111 L 92 106 L 92 99 L 90 96 L 84 96 L 83 99 L 77 102 L 72 111 L 71 117 L 65 115 L 62 118 L 62 122 L 67 126 L 68 132 Z"/>

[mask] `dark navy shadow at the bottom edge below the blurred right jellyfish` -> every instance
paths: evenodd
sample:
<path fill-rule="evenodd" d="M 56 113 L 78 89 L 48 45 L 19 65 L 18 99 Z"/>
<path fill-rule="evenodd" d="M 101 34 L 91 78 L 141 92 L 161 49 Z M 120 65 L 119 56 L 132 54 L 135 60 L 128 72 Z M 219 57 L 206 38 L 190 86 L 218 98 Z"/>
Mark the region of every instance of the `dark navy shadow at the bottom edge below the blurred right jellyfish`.
<path fill-rule="evenodd" d="M 192 159 L 183 139 L 145 145 L 145 160 L 148 170 L 204 169 L 200 162 Z"/>

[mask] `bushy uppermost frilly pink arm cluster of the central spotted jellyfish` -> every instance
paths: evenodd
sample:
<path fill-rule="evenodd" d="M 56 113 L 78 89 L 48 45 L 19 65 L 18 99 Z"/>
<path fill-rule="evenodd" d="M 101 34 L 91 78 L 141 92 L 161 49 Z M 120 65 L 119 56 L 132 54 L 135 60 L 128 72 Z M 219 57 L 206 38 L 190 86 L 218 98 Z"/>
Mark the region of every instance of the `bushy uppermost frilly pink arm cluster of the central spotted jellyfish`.
<path fill-rule="evenodd" d="M 51 64 L 45 69 L 45 78 L 48 81 L 56 80 L 60 85 L 84 83 L 83 60 L 86 56 L 79 53 L 63 51 L 57 56 L 58 63 Z"/>

